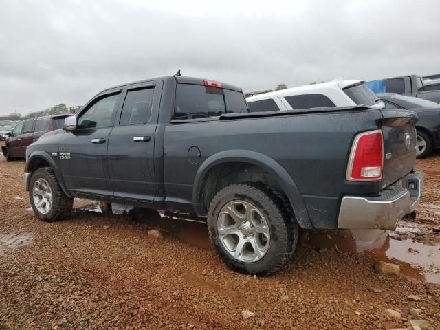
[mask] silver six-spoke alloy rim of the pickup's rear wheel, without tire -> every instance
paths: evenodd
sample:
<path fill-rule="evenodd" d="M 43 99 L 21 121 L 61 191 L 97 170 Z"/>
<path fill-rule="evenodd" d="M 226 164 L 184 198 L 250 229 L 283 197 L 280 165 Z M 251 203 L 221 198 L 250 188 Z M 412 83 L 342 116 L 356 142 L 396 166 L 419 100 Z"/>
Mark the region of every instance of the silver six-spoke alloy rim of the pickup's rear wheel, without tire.
<path fill-rule="evenodd" d="M 238 261 L 254 263 L 269 250 L 269 225 L 247 201 L 230 201 L 223 206 L 217 218 L 217 232 L 223 247 Z"/>

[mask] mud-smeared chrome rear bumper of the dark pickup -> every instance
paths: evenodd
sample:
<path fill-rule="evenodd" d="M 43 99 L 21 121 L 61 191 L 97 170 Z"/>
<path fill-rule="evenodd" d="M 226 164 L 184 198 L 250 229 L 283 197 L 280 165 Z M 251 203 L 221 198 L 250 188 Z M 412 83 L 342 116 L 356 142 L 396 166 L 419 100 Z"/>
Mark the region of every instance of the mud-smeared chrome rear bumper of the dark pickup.
<path fill-rule="evenodd" d="M 406 214 L 414 211 L 423 189 L 423 173 L 414 171 L 388 186 L 378 197 L 344 196 L 338 228 L 394 230 Z"/>

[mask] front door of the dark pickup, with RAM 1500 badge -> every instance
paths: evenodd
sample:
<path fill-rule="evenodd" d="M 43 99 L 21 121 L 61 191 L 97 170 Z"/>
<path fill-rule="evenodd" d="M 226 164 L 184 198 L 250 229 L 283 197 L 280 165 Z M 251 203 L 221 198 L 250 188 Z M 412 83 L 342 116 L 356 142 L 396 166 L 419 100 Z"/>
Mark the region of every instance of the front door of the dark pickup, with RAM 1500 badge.
<path fill-rule="evenodd" d="M 107 145 L 120 91 L 98 96 L 77 117 L 76 131 L 65 131 L 58 157 L 67 190 L 113 196 L 107 175 Z"/>

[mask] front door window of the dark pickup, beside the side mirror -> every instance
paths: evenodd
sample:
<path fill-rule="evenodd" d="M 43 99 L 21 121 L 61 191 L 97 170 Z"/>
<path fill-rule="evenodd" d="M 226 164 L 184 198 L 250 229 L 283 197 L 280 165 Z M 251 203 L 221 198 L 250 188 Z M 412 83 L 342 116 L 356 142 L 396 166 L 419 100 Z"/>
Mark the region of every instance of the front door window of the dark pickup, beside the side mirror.
<path fill-rule="evenodd" d="M 113 114 L 118 105 L 120 94 L 98 98 L 78 116 L 79 129 L 99 129 L 112 124 Z"/>

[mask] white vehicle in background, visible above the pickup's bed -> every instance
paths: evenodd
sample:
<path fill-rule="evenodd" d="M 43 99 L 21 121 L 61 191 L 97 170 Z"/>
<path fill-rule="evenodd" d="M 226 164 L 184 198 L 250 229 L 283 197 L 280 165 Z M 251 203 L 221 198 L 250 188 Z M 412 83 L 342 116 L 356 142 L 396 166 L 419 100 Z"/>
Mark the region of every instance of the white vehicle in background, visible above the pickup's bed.
<path fill-rule="evenodd" d="M 333 80 L 301 87 L 271 91 L 246 99 L 250 112 L 352 107 L 366 105 L 382 109 L 384 102 L 364 85 L 364 80 Z"/>

